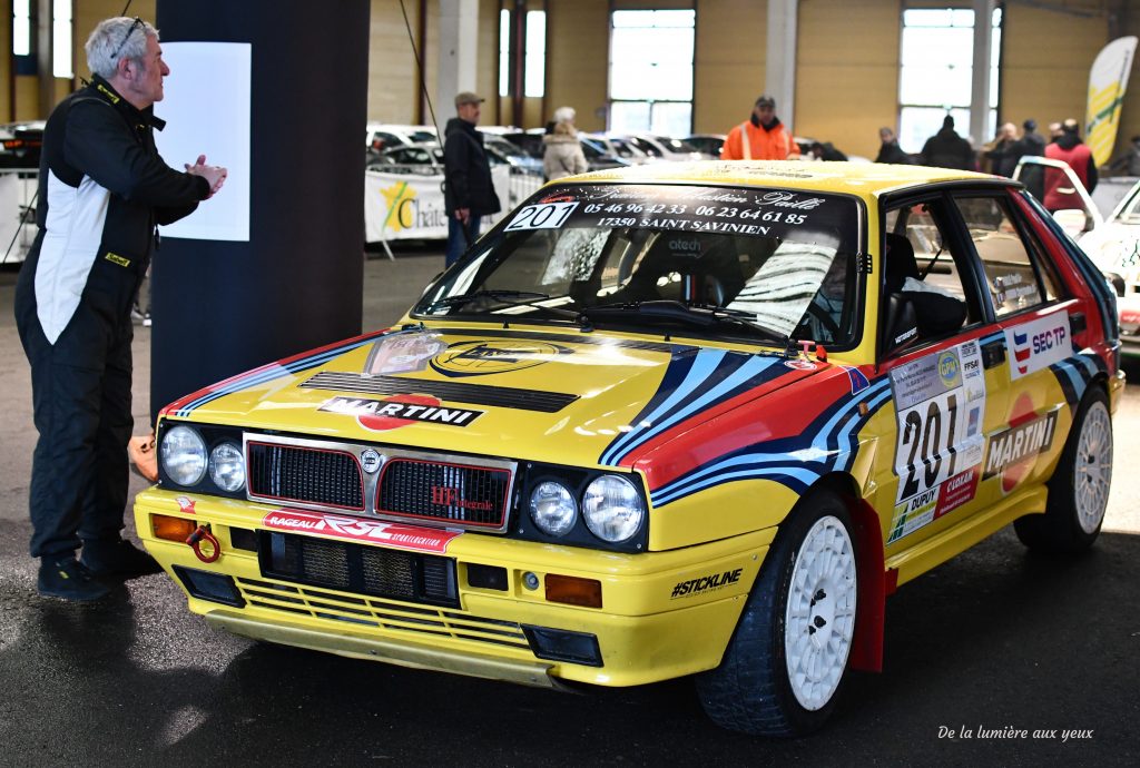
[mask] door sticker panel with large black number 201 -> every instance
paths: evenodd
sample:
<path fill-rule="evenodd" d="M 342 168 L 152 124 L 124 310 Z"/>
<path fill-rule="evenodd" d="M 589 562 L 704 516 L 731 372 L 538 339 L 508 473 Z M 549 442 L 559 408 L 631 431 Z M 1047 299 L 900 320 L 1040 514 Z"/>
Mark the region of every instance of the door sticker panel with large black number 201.
<path fill-rule="evenodd" d="M 986 383 L 978 342 L 927 354 L 890 373 L 898 490 L 888 544 L 968 503 L 977 488 Z"/>

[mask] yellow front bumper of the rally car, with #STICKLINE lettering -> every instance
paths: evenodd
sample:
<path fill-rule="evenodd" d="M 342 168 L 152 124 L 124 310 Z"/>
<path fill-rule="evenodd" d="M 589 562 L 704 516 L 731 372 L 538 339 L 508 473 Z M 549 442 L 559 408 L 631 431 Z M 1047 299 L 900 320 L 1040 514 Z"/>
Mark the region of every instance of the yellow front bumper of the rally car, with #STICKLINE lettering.
<path fill-rule="evenodd" d="M 340 655 L 544 687 L 641 685 L 716 667 L 775 534 L 765 529 L 628 555 L 467 532 L 448 541 L 440 556 L 454 562 L 455 602 L 431 605 L 267 574 L 266 554 L 258 552 L 267 545 L 249 541 L 269 540 L 263 522 L 275 509 L 153 488 L 138 496 L 135 515 L 147 550 L 211 626 Z M 154 515 L 207 528 L 218 541 L 217 559 L 204 562 L 185 542 L 157 538 Z M 367 547 L 377 556 L 391 549 Z M 500 569 L 505 578 L 494 588 L 472 586 L 472 566 Z M 552 575 L 596 580 L 601 607 L 549 599 Z M 583 651 L 589 647 L 596 657 Z"/>

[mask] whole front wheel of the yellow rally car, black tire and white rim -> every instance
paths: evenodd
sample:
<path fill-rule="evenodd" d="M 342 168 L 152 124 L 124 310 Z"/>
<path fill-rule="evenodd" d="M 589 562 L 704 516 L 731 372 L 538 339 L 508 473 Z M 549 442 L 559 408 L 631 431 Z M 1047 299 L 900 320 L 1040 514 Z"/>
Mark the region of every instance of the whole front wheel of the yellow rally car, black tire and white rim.
<path fill-rule="evenodd" d="M 846 505 L 828 491 L 813 493 L 781 525 L 720 665 L 697 678 L 701 706 L 714 722 L 762 736 L 800 736 L 826 721 L 847 677 L 855 631 L 850 530 Z M 815 580 L 811 563 L 836 567 Z M 789 613 L 789 598 L 798 611 Z M 793 647 L 789 654 L 789 639 L 801 651 Z M 823 651 L 816 647 L 821 644 Z M 824 660 L 816 669 L 828 673 L 817 685 L 800 675 L 793 683 L 790 669 L 801 671 L 800 662 L 813 653 Z"/>

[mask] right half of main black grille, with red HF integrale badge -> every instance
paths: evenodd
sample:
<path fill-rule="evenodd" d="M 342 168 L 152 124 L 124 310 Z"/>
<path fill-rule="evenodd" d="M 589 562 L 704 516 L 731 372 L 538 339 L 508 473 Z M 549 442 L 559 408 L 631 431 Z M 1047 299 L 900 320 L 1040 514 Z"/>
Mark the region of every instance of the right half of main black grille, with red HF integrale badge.
<path fill-rule="evenodd" d="M 376 512 L 502 529 L 510 484 L 507 469 L 393 458 L 380 477 Z"/>

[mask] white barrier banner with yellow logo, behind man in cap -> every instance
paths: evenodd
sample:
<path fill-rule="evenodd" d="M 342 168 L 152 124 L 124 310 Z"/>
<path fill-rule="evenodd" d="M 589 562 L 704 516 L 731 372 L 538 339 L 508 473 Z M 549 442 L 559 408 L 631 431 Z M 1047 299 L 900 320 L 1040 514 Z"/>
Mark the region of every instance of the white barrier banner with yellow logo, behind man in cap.
<path fill-rule="evenodd" d="M 491 169 L 495 194 L 504 211 L 483 216 L 481 231 L 487 231 L 508 210 L 511 169 Z M 447 239 L 447 210 L 443 205 L 443 175 L 420 173 L 364 174 L 364 239 L 381 240 Z"/>

